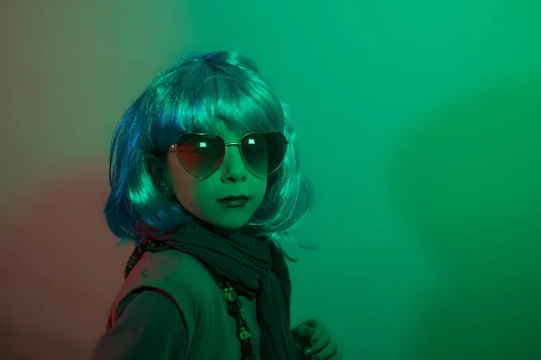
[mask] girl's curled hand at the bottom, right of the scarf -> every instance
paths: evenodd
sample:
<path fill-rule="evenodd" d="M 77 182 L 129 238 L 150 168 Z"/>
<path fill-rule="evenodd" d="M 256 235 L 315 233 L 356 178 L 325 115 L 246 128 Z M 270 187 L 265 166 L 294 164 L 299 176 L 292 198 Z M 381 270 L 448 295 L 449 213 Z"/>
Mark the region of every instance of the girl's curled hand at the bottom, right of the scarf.
<path fill-rule="evenodd" d="M 325 326 L 317 320 L 306 320 L 291 330 L 295 341 L 301 345 L 304 356 L 314 360 L 341 360 L 342 352 L 329 337 Z"/>

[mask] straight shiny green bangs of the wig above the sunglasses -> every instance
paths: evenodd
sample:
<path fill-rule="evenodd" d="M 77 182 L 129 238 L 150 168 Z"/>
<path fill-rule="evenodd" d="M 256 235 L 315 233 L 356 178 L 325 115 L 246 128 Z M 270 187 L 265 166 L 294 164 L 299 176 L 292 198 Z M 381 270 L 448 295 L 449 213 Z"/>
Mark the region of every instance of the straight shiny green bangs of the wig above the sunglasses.
<path fill-rule="evenodd" d="M 193 63 L 169 86 L 161 91 L 168 96 L 161 102 L 169 106 L 156 117 L 158 147 L 170 145 L 182 133 L 215 134 L 218 120 L 240 133 L 284 130 L 284 110 L 271 86 L 238 67 Z"/>

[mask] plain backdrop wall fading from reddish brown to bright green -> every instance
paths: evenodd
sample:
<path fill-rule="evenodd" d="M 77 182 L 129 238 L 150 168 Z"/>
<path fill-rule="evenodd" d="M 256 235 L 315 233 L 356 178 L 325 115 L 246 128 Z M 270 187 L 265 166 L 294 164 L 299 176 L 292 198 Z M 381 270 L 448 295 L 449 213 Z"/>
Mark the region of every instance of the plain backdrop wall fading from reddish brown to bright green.
<path fill-rule="evenodd" d="M 0 2 L 0 358 L 87 359 L 123 280 L 115 121 L 188 51 L 241 49 L 316 186 L 294 323 L 345 360 L 541 359 L 535 0 Z"/>

